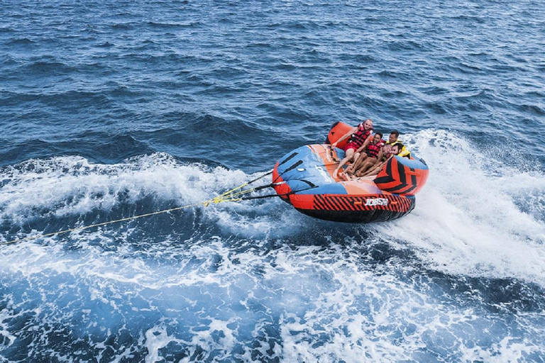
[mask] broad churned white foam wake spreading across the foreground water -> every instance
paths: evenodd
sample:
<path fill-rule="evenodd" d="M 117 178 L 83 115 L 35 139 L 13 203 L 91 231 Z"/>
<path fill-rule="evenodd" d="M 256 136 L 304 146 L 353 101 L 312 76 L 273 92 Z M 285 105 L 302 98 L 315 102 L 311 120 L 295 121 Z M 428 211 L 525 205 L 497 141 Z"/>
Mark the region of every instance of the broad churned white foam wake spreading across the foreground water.
<path fill-rule="evenodd" d="M 203 359 L 211 354 L 231 357 L 240 344 L 243 352 L 237 358 L 250 361 L 259 352 L 285 362 L 419 360 L 414 352 L 429 348 L 450 348 L 443 357 L 452 354 L 451 360 L 460 354 L 517 357 L 541 349 L 527 339 L 504 343 L 508 332 L 484 333 L 491 345 L 466 347 L 478 335 L 471 329 L 492 326 L 500 317 L 481 318 L 483 311 L 445 303 L 426 289 L 415 289 L 392 266 L 361 264 L 358 242 L 327 248 L 281 245 L 263 253 L 254 241 L 252 248 L 235 253 L 229 241 L 213 237 L 178 250 L 151 246 L 147 252 L 153 258 L 122 248 L 107 252 L 94 245 L 65 251 L 50 242 L 31 245 L 32 250 L 16 246 L 17 253 L 2 259 L 9 261 L 1 264 L 2 271 L 31 281 L 33 289 L 56 289 L 54 294 L 62 287 L 50 281 L 77 284 L 82 286 L 83 301 L 89 301 L 86 305 L 116 311 L 128 321 L 134 311 L 132 298 L 143 299 L 143 309 L 137 309 L 140 315 L 149 312 L 153 317 L 157 310 L 165 315 L 157 323 L 148 321 L 151 326 L 143 322 L 148 327 L 142 332 L 149 352 L 146 362 L 160 361 L 160 351 L 171 342 L 187 350 L 189 357 L 200 348 Z M 417 273 L 402 268 L 407 275 Z M 47 313 L 49 301 L 43 303 Z M 177 323 L 178 317 L 185 325 Z M 189 323 L 192 320 L 196 323 Z M 109 320 L 98 323 L 97 329 L 116 328 Z M 279 337 L 268 335 L 270 325 L 280 330 Z M 253 330 L 244 331 L 248 326 Z M 452 342 L 437 342 L 438 337 Z M 253 344 L 256 341 L 259 345 Z"/>

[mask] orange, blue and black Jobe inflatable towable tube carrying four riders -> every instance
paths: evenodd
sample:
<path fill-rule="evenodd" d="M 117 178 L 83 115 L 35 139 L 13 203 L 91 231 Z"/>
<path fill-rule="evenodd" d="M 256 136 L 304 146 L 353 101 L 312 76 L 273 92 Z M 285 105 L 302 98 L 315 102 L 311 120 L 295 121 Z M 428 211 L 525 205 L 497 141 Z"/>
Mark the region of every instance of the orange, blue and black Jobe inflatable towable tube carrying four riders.
<path fill-rule="evenodd" d="M 394 156 L 375 177 L 334 179 L 344 152 L 330 144 L 350 129 L 336 123 L 326 144 L 305 145 L 282 157 L 272 171 L 277 195 L 307 216 L 337 222 L 381 222 L 410 213 L 414 194 L 428 179 L 424 160 Z"/>

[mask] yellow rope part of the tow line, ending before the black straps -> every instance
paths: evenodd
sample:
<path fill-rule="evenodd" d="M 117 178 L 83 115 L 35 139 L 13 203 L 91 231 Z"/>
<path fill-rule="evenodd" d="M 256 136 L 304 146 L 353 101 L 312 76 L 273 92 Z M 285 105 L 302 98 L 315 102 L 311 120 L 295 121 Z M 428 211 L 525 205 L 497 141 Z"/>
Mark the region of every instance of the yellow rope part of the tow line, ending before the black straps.
<path fill-rule="evenodd" d="M 226 191 L 224 194 L 216 196 L 213 199 L 209 199 L 208 201 L 202 201 L 202 202 L 194 203 L 194 204 L 187 204 L 187 206 L 181 206 L 181 207 L 176 207 L 176 208 L 165 209 L 163 211 L 156 211 L 156 212 L 151 212 L 151 213 L 140 214 L 138 216 L 133 216 L 133 217 L 126 217 L 126 218 L 121 218 L 121 219 L 116 219 L 116 220 L 109 220 L 107 222 L 95 223 L 95 224 L 92 224 L 92 225 L 84 225 L 82 227 L 70 228 L 70 229 L 67 229 L 67 230 L 59 230 L 59 231 L 53 232 L 53 233 L 44 233 L 44 234 L 40 234 L 40 235 L 33 235 L 31 237 L 20 238 L 18 240 L 12 240 L 12 241 L 8 241 L 8 242 L 0 242 L 0 245 L 12 245 L 13 243 L 24 242 L 24 241 L 28 241 L 28 240 L 37 240 L 38 238 L 50 237 L 52 235 L 61 235 L 62 233 L 70 233 L 70 232 L 76 232 L 76 231 L 80 231 L 80 230 L 87 230 L 89 228 L 100 227 L 102 225 L 109 225 L 109 224 L 113 224 L 113 223 L 126 222 L 127 220 L 134 220 L 134 219 L 138 219 L 138 218 L 155 216 L 157 214 L 162 214 L 162 213 L 170 213 L 170 212 L 174 212 L 174 211 L 180 211 L 182 209 L 192 208 L 192 207 L 196 207 L 196 206 L 205 206 L 205 207 L 207 207 L 211 203 L 217 204 L 217 203 L 221 203 L 221 202 L 224 202 L 224 201 L 241 201 L 242 200 L 241 198 L 235 198 L 235 197 L 236 196 L 241 196 L 243 194 L 251 193 L 255 189 L 246 189 L 246 190 L 243 190 L 243 191 L 238 191 L 236 193 L 233 193 L 233 191 L 241 189 L 244 186 L 247 186 L 248 184 L 249 183 L 241 184 L 240 186 L 237 186 L 236 188 L 233 188 L 233 189 L 231 189 L 229 191 Z"/>

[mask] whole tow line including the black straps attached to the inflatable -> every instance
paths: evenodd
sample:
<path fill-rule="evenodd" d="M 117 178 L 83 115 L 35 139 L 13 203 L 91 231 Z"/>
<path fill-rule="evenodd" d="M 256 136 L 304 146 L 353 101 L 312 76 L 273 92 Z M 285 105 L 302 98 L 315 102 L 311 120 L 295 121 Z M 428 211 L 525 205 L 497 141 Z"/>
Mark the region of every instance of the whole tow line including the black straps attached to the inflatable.
<path fill-rule="evenodd" d="M 258 190 L 261 190 L 261 189 L 265 189 L 265 188 L 269 188 L 269 187 L 281 184 L 281 183 L 283 183 L 283 181 L 281 183 L 273 182 L 271 184 L 266 184 L 266 185 L 263 185 L 263 186 L 257 186 L 255 188 L 251 188 L 251 189 L 240 190 L 240 189 L 243 189 L 245 186 L 248 186 L 248 185 L 254 183 L 255 181 L 258 181 L 259 179 L 262 179 L 263 177 L 266 177 L 269 174 L 272 174 L 272 170 L 270 172 L 267 172 L 267 173 L 261 175 L 260 177 L 257 177 L 257 178 L 255 178 L 255 179 L 253 179 L 251 181 L 247 181 L 246 183 L 243 183 L 243 184 L 237 186 L 236 188 L 228 190 L 225 193 L 220 194 L 219 196 L 216 196 L 216 197 L 214 197 L 212 199 L 209 199 L 207 201 L 201 201 L 199 203 L 187 204 L 187 206 L 180 206 L 180 207 L 175 207 L 175 208 L 164 209 L 163 211 L 156 211 L 156 212 L 151 212 L 151 213 L 140 214 L 138 216 L 133 216 L 133 217 L 120 218 L 120 219 L 116 219 L 116 220 L 108 220 L 108 221 L 102 222 L 102 223 L 94 223 L 92 225 L 84 225 L 82 227 L 70 228 L 70 229 L 67 229 L 67 230 L 59 230 L 57 232 L 52 232 L 52 233 L 42 233 L 42 234 L 39 234 L 39 235 L 33 235 L 31 237 L 19 238 L 17 240 L 11 240 L 11 241 L 7 241 L 7 242 L 0 242 L 0 245 L 12 245 L 12 244 L 15 244 L 15 243 L 18 243 L 18 242 L 24 242 L 24 241 L 28 241 L 28 240 L 38 240 L 38 238 L 51 237 L 53 235 L 61 235 L 61 234 L 64 234 L 64 233 L 77 232 L 77 231 L 79 232 L 80 230 L 87 230 L 89 228 L 101 227 L 103 225 L 126 222 L 128 220 L 135 220 L 135 219 L 138 219 L 138 218 L 156 216 L 156 215 L 162 214 L 162 213 L 170 213 L 170 212 L 174 212 L 174 211 L 181 211 L 182 209 L 192 208 L 192 207 L 196 207 L 196 206 L 205 206 L 205 207 L 207 207 L 210 204 L 218 204 L 218 203 L 223 203 L 223 202 L 226 202 L 226 201 L 245 201 L 245 200 L 251 200 L 251 199 L 263 199 L 263 198 L 272 198 L 274 196 L 279 196 L 278 194 L 270 194 L 270 195 L 267 195 L 267 196 L 243 196 L 243 195 L 252 193 L 253 191 L 258 191 Z"/>

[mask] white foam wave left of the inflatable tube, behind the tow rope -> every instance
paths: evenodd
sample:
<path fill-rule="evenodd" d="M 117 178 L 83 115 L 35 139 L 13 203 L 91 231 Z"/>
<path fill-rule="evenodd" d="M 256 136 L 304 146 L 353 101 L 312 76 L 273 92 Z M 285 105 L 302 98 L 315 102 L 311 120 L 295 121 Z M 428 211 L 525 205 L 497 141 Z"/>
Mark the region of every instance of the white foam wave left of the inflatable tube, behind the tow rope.
<path fill-rule="evenodd" d="M 23 225 L 29 219 L 109 211 L 122 203 L 138 203 L 144 198 L 192 205 L 214 198 L 257 175 L 224 167 L 209 169 L 200 164 L 181 164 L 164 153 L 111 165 L 94 164 L 82 157 L 28 160 L 0 169 L 0 180 L 6 181 L 0 189 L 0 218 Z M 269 178 L 255 185 L 266 184 Z M 274 194 L 274 191 L 269 189 L 262 194 Z M 280 206 L 285 213 L 274 213 Z M 228 233 L 253 238 L 288 235 L 297 229 L 292 223 L 294 218 L 303 218 L 276 199 L 212 203 L 203 211 L 205 218 L 209 218 L 208 223 L 216 223 Z M 277 228 L 278 225 L 284 228 Z M 27 236 L 20 236 L 24 237 Z"/>

